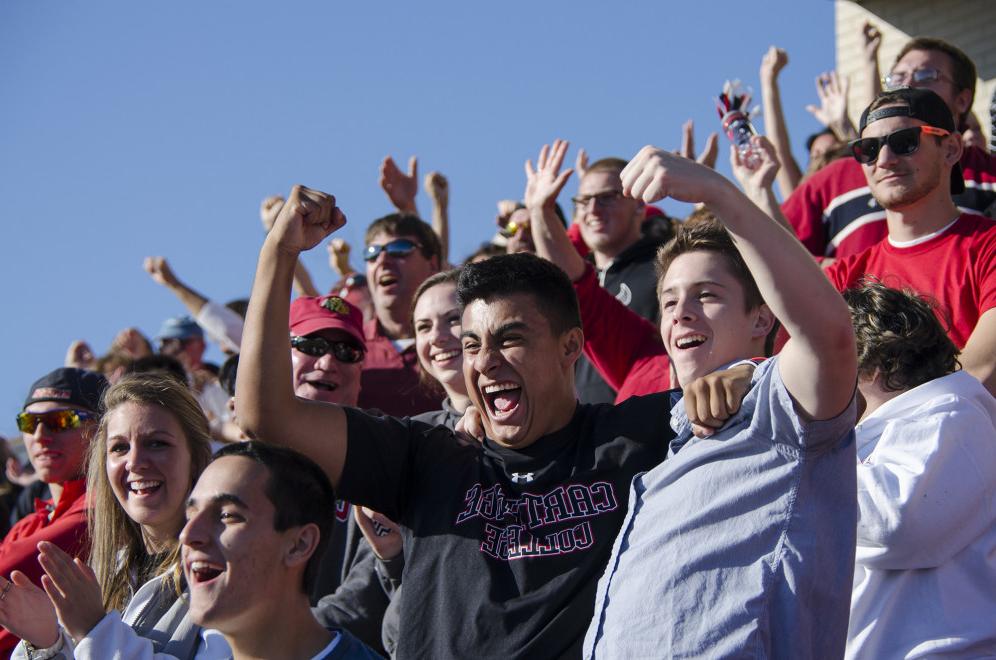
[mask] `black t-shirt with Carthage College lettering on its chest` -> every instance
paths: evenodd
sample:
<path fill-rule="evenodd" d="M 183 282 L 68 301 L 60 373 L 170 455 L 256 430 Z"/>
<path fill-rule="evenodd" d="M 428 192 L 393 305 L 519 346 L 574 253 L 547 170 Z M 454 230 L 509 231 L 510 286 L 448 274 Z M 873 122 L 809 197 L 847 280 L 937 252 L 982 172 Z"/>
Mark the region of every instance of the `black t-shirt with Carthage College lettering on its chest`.
<path fill-rule="evenodd" d="M 666 394 L 579 405 L 525 449 L 348 409 L 340 495 L 406 532 L 398 657 L 580 657 L 635 474 L 667 454 Z"/>

